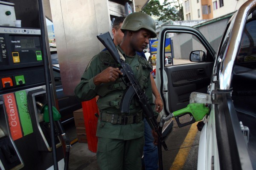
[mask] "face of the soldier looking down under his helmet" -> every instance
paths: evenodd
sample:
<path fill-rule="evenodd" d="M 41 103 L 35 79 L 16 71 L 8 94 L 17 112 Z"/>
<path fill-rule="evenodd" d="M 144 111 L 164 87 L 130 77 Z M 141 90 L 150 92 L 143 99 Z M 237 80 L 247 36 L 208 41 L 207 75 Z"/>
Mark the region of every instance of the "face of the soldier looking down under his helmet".
<path fill-rule="evenodd" d="M 148 46 L 150 37 L 150 31 L 146 29 L 140 29 L 139 31 L 133 32 L 131 45 L 136 51 L 142 52 Z"/>

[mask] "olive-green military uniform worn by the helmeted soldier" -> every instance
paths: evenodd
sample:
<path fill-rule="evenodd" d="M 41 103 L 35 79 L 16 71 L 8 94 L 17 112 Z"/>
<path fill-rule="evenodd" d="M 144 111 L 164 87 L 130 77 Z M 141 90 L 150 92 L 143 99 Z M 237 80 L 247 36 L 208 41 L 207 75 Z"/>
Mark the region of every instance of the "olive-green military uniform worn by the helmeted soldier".
<path fill-rule="evenodd" d="M 151 107 L 155 111 L 149 71 L 151 65 L 138 54 L 133 57 L 125 56 L 122 49 L 119 46 L 117 48 L 124 55 L 125 62 L 131 66 L 134 76 L 141 88 L 145 90 Z M 108 51 L 102 51 L 94 56 L 82 75 L 75 94 L 81 101 L 90 100 L 99 95 L 97 105 L 100 115 L 96 131 L 99 167 L 102 170 L 140 170 L 144 146 L 144 122 L 142 121 L 144 115 L 136 95 L 131 100 L 130 113 L 125 115 L 130 116 L 131 119 L 128 119 L 127 125 L 123 125 L 121 119 L 124 114 L 120 113 L 119 107 L 126 85 L 122 82 L 122 78 L 99 86 L 93 83 L 93 78 L 109 66 L 118 68 Z M 156 116 L 157 114 L 155 112 Z"/>

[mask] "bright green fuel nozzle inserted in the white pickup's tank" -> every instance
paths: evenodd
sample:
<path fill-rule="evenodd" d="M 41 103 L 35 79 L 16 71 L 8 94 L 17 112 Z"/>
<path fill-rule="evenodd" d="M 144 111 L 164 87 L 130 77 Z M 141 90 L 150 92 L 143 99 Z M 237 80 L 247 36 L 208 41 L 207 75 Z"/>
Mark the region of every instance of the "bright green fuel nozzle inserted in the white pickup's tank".
<path fill-rule="evenodd" d="M 174 111 L 173 113 L 169 114 L 168 116 L 162 116 L 160 120 L 160 127 L 163 127 L 163 124 L 175 117 L 175 120 L 179 127 L 183 127 L 186 125 L 190 125 L 194 122 L 198 122 L 204 118 L 204 116 L 209 113 L 209 104 L 204 103 L 191 103 L 187 105 L 186 108 L 180 109 L 178 111 Z M 180 117 L 185 116 L 189 114 L 191 116 L 191 119 L 188 122 L 180 123 Z"/>

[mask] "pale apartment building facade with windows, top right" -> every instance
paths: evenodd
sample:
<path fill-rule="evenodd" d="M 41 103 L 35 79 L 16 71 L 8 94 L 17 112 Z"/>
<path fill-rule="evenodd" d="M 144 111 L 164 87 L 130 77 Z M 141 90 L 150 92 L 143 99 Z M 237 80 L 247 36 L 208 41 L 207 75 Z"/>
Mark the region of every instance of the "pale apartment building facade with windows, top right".
<path fill-rule="evenodd" d="M 247 0 L 184 0 L 184 20 L 209 20 L 234 12 Z"/>

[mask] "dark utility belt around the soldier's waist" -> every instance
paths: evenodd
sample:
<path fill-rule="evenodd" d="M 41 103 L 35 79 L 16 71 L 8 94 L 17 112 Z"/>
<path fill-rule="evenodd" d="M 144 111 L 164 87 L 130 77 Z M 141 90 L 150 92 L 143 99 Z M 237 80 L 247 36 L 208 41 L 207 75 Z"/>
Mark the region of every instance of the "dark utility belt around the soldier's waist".
<path fill-rule="evenodd" d="M 113 125 L 127 125 L 138 123 L 143 120 L 142 111 L 133 115 L 118 115 L 112 113 L 101 112 L 101 121 L 110 122 Z"/>

